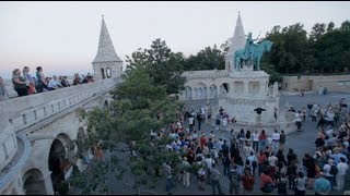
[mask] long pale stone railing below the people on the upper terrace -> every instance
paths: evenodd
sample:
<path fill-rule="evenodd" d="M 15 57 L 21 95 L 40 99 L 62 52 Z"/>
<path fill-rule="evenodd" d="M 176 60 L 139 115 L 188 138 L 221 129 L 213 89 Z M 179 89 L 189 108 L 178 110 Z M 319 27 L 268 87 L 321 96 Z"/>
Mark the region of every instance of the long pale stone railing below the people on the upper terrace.
<path fill-rule="evenodd" d="M 82 102 L 110 90 L 119 82 L 120 78 L 108 78 L 0 101 L 0 125 L 4 127 L 10 123 L 15 133 L 26 131 L 55 114 L 79 108 Z"/>

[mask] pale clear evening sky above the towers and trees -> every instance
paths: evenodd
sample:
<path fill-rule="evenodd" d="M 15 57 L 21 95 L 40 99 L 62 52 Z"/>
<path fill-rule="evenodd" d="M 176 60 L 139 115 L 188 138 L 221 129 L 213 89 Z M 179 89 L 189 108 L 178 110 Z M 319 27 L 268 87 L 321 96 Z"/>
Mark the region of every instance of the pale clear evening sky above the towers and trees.
<path fill-rule="evenodd" d="M 0 75 L 40 65 L 47 76 L 93 72 L 102 14 L 121 60 L 161 38 L 172 51 L 196 54 L 233 36 L 238 11 L 245 33 L 260 38 L 275 25 L 350 20 L 347 1 L 1 1 Z"/>

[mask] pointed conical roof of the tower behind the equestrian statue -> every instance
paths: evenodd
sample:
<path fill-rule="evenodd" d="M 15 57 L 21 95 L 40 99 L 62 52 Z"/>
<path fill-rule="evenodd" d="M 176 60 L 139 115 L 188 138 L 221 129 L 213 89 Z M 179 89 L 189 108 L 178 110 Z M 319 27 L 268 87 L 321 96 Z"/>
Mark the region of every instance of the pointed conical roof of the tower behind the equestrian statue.
<path fill-rule="evenodd" d="M 238 12 L 238 19 L 236 22 L 236 27 L 234 29 L 234 35 L 232 37 L 230 49 L 226 53 L 226 57 L 233 57 L 234 52 L 238 49 L 243 49 L 245 47 L 245 34 L 242 25 L 241 13 Z"/>

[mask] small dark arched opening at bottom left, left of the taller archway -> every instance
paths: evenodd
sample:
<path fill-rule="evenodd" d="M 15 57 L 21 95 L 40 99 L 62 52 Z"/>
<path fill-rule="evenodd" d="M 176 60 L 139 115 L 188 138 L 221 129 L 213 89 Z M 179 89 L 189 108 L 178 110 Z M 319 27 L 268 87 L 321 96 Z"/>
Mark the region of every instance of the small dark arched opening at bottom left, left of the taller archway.
<path fill-rule="evenodd" d="M 32 169 L 23 175 L 23 188 L 25 195 L 46 195 L 43 173 L 38 169 Z"/>

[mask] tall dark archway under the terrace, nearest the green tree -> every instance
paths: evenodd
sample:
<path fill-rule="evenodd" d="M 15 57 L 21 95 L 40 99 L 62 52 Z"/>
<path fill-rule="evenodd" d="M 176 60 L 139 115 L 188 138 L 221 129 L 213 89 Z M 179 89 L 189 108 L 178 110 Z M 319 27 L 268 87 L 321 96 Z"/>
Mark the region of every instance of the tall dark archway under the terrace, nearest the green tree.
<path fill-rule="evenodd" d="M 49 158 L 48 169 L 51 171 L 51 181 L 55 193 L 60 193 L 60 185 L 71 174 L 72 161 L 74 160 L 74 144 L 68 135 L 59 134 L 52 142 Z"/>

